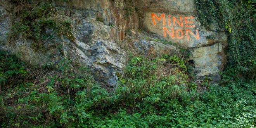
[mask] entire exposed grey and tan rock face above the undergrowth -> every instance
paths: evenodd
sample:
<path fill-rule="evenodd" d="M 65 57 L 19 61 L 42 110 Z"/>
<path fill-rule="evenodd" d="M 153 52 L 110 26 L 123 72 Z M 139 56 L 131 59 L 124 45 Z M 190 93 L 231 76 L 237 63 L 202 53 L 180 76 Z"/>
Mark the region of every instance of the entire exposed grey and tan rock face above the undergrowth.
<path fill-rule="evenodd" d="M 70 4 L 71 3 L 71 4 Z M 125 69 L 127 48 L 137 54 L 179 54 L 180 50 L 165 40 L 176 43 L 191 53 L 197 76 L 220 80 L 225 64 L 223 48 L 227 37 L 217 26 L 201 26 L 194 0 L 53 0 L 59 17 L 73 22 L 74 40 L 53 39 L 63 43 L 65 55 L 74 66 L 86 66 L 102 85 L 115 86 L 118 74 Z M 32 65 L 57 63 L 63 53 L 52 40 L 45 40 L 45 51 L 36 51 L 32 40 L 22 37 L 8 44 L 11 27 L 8 2 L 0 2 L 0 49 L 9 50 Z M 51 33 L 47 29 L 46 33 Z M 129 49 L 128 48 L 128 49 Z"/>

